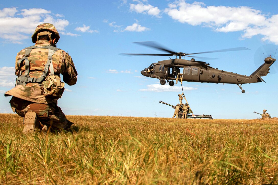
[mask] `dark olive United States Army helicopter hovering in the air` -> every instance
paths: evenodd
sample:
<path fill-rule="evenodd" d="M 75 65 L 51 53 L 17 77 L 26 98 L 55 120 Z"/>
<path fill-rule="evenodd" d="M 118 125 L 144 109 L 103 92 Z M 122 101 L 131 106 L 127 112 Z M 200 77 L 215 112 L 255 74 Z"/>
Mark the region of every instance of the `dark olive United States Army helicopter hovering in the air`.
<path fill-rule="evenodd" d="M 174 80 L 177 79 L 177 76 L 182 74 L 183 81 L 188 82 L 207 82 L 207 83 L 227 83 L 227 84 L 237 84 L 241 89 L 241 92 L 244 93 L 245 90 L 242 89 L 242 84 L 247 83 L 257 83 L 265 82 L 262 79 L 262 76 L 266 76 L 269 73 L 269 67 L 276 61 L 272 58 L 271 55 L 264 59 L 264 63 L 254 71 L 250 76 L 241 75 L 233 72 L 227 72 L 224 70 L 219 70 L 218 68 L 212 68 L 209 66 L 209 63 L 203 61 L 197 61 L 194 58 L 201 59 L 215 59 L 215 58 L 203 58 L 192 56 L 192 54 L 202 54 L 202 53 L 215 53 L 215 52 L 225 52 L 225 51 L 240 51 L 240 50 L 249 50 L 248 48 L 239 47 L 239 48 L 230 48 L 230 49 L 221 49 L 215 51 L 206 51 L 199 53 L 182 53 L 174 52 L 168 49 L 163 48 L 162 46 L 156 44 L 153 41 L 147 42 L 136 42 L 143 46 L 148 46 L 158 50 L 166 51 L 166 54 L 133 54 L 125 53 L 126 55 L 148 55 L 148 56 L 176 56 L 175 59 L 168 59 L 163 61 L 158 61 L 156 63 L 150 64 L 149 67 L 143 69 L 141 74 L 150 78 L 157 78 L 160 81 L 161 85 L 165 85 L 166 81 L 170 86 L 174 86 Z M 179 56 L 179 58 L 177 58 Z M 192 57 L 190 60 L 182 59 L 182 57 Z M 193 58 L 194 57 L 194 58 Z"/>

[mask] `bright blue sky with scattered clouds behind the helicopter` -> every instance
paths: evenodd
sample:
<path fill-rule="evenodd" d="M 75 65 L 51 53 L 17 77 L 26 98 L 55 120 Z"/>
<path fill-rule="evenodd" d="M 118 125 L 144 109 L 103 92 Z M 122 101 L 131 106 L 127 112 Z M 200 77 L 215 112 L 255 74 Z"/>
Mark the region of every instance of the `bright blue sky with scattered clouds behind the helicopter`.
<path fill-rule="evenodd" d="M 41 4 L 41 5 L 40 5 Z M 0 3 L 0 112 L 11 113 L 16 54 L 33 45 L 31 35 L 41 23 L 52 23 L 61 38 L 58 48 L 69 51 L 78 71 L 74 86 L 66 85 L 58 106 L 67 115 L 172 117 L 174 109 L 160 104 L 178 103 L 180 84 L 161 86 L 140 71 L 167 56 L 123 56 L 120 53 L 162 53 L 132 42 L 156 41 L 186 53 L 246 47 L 250 50 L 200 54 L 219 58 L 206 61 L 214 68 L 249 76 L 257 49 L 278 44 L 276 1 L 2 1 Z M 174 58 L 174 57 L 171 57 Z M 190 59 L 190 58 L 188 58 Z M 260 61 L 261 65 L 264 61 Z M 276 63 L 274 63 L 275 65 Z M 216 119 L 256 119 L 267 109 L 277 110 L 277 73 L 266 83 L 235 84 L 183 82 L 194 114 Z"/>

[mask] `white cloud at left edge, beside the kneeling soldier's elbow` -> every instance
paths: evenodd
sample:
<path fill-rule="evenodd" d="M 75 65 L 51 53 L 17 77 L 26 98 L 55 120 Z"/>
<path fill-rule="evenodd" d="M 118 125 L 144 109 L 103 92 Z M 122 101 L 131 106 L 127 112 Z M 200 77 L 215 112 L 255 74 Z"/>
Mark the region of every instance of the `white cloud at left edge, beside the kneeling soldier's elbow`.
<path fill-rule="evenodd" d="M 0 68 L 0 87 L 14 87 L 16 75 L 14 67 Z"/>

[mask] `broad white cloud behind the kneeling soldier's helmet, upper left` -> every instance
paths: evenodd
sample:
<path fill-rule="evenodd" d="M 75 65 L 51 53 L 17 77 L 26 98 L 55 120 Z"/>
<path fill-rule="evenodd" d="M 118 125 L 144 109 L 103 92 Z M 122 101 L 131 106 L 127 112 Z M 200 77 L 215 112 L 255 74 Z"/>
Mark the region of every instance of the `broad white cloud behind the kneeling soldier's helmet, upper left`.
<path fill-rule="evenodd" d="M 58 17 L 58 18 L 57 18 Z M 22 44 L 24 39 L 31 39 L 30 36 L 39 24 L 52 23 L 61 35 L 80 36 L 66 31 L 69 21 L 61 19 L 61 14 L 53 14 L 51 11 L 41 8 L 17 9 L 3 8 L 0 10 L 0 39 L 6 43 Z M 98 33 L 91 30 L 90 26 L 78 27 L 77 31 Z"/>

